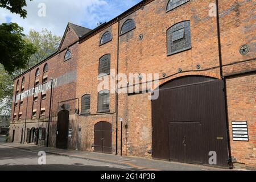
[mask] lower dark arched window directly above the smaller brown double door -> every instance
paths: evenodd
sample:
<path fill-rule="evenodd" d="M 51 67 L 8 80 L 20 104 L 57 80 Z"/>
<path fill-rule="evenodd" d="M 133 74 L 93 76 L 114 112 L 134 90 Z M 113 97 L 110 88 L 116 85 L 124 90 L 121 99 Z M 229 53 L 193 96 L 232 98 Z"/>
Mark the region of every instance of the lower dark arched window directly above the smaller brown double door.
<path fill-rule="evenodd" d="M 109 112 L 109 90 L 98 93 L 98 113 Z"/>

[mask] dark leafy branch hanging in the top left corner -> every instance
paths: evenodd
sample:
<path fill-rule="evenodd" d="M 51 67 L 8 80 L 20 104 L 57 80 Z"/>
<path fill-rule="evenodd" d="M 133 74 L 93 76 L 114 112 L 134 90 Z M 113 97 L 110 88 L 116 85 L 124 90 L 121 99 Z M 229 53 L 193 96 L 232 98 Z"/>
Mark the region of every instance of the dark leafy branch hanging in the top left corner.
<path fill-rule="evenodd" d="M 27 17 L 27 11 L 24 10 L 26 6 L 26 0 L 0 0 L 0 7 L 10 10 L 11 13 L 19 14 L 22 18 Z"/>

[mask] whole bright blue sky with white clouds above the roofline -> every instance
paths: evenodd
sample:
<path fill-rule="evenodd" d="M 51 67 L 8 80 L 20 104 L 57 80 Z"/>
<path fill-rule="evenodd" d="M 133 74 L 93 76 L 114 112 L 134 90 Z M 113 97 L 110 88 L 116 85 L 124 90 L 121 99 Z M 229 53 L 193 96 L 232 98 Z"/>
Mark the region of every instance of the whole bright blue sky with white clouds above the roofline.
<path fill-rule="evenodd" d="M 97 27 L 98 22 L 108 22 L 141 0 L 27 0 L 27 18 L 20 18 L 6 9 L 0 9 L 0 23 L 16 22 L 24 28 L 25 34 L 47 28 L 62 36 L 68 22 L 87 28 Z M 43 6 L 42 4 L 43 3 Z M 45 5 L 45 6 L 44 6 Z M 42 10 L 42 7 L 46 7 Z M 45 12 L 46 16 L 39 16 Z"/>

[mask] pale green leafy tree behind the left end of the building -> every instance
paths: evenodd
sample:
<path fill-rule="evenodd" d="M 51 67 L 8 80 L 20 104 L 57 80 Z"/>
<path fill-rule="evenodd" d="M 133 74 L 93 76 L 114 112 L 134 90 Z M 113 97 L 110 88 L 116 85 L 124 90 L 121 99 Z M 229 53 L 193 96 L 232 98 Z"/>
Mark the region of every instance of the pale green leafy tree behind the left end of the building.
<path fill-rule="evenodd" d="M 52 34 L 47 29 L 41 32 L 31 30 L 23 39 L 26 43 L 32 44 L 37 51 L 30 55 L 24 68 L 17 68 L 13 72 L 7 72 L 0 64 L 0 115 L 10 115 L 14 89 L 13 79 L 55 53 L 61 41 L 60 36 Z"/>

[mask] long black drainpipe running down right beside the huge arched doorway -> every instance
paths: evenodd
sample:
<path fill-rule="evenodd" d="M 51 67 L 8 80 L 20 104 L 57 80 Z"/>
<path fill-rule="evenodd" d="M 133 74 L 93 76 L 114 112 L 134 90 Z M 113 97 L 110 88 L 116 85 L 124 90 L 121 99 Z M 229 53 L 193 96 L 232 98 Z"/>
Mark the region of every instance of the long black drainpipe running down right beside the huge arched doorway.
<path fill-rule="evenodd" d="M 233 168 L 232 164 L 232 154 L 231 154 L 231 146 L 230 146 L 230 135 L 229 135 L 229 118 L 228 118 L 228 101 L 227 101 L 227 93 L 226 93 L 226 79 L 223 76 L 222 69 L 222 53 L 221 53 L 221 37 L 220 37 L 220 15 L 218 9 L 218 0 L 216 0 L 216 13 L 217 13 L 217 35 L 218 35 L 218 55 L 220 60 L 220 76 L 224 82 L 224 101 L 225 101 L 225 113 L 226 113 L 226 135 L 228 139 L 228 164 L 229 168 Z"/>

